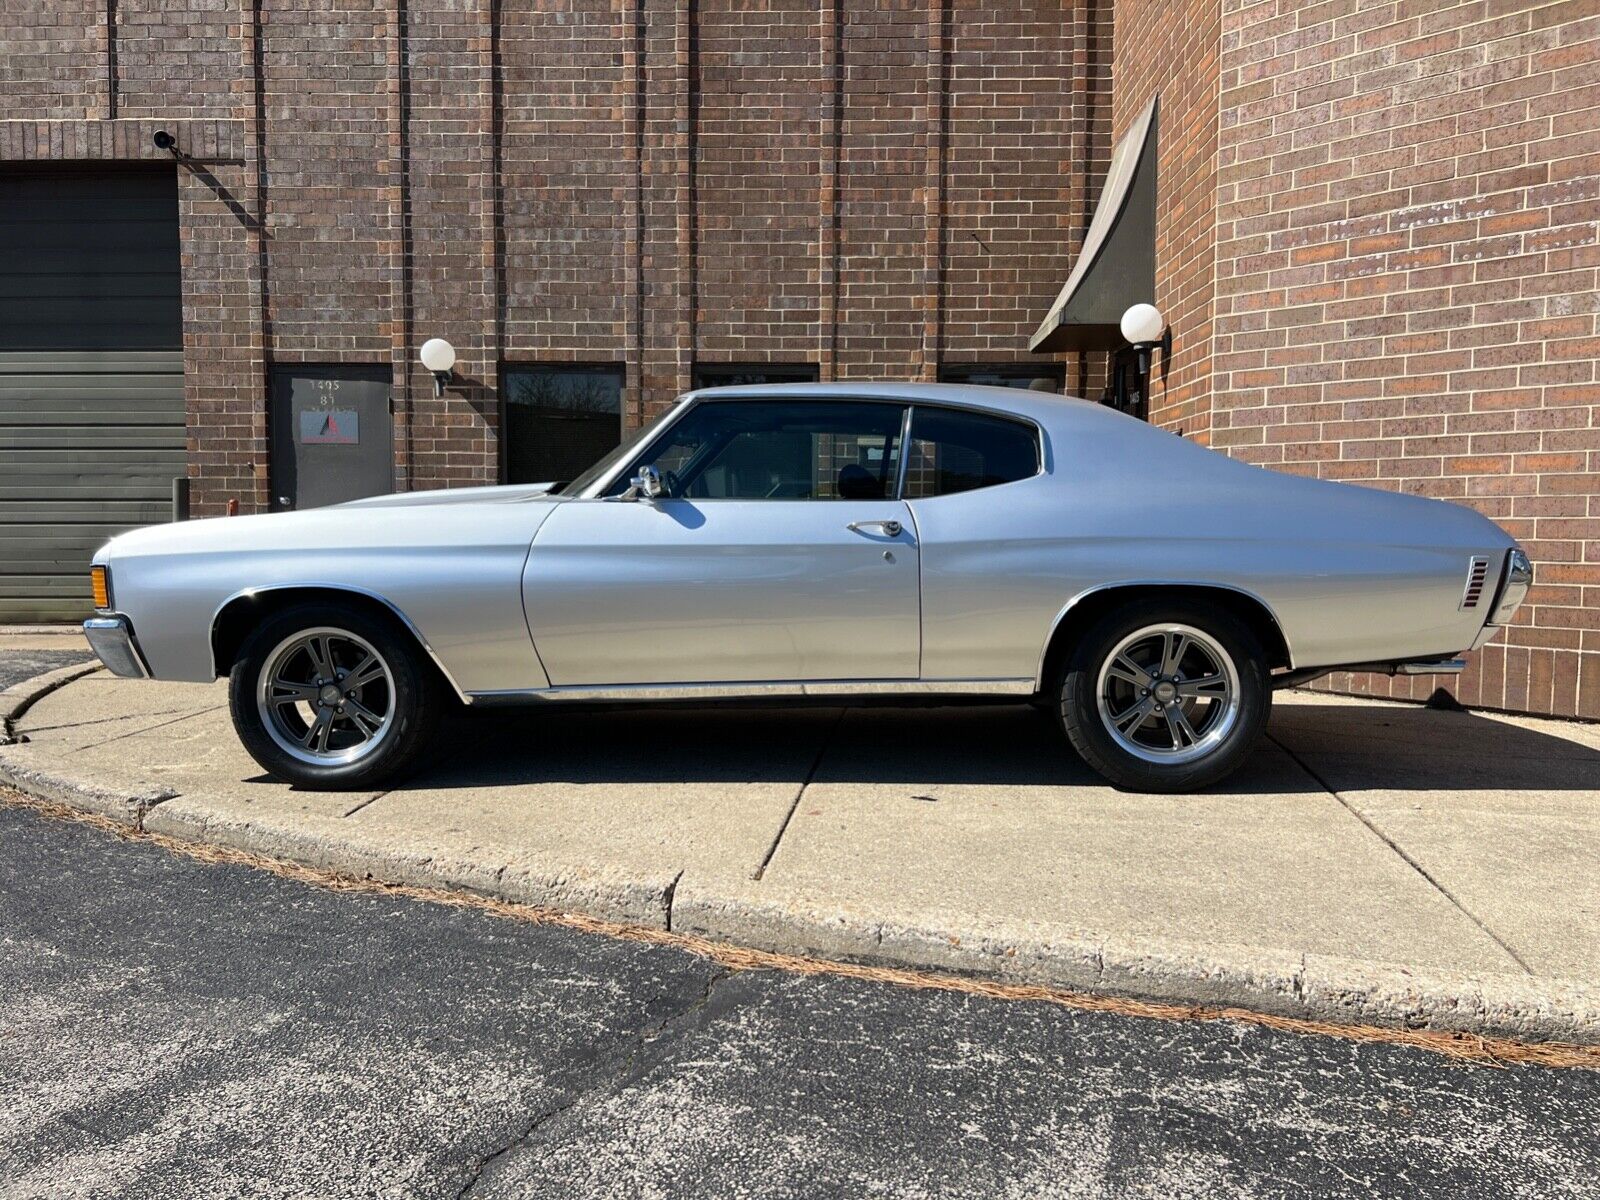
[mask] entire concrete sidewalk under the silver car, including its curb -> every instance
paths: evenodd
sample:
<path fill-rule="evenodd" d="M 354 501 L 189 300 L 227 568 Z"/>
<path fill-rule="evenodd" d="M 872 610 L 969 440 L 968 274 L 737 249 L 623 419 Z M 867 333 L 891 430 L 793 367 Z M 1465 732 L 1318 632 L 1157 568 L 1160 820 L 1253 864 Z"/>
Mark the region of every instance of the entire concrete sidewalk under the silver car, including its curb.
<path fill-rule="evenodd" d="M 0 642 L 3 645 L 3 642 Z M 226 688 L 91 674 L 0 779 L 184 838 L 766 949 L 1328 1019 L 1600 1040 L 1600 726 L 1280 693 L 1203 795 L 1026 707 L 469 715 L 296 792 Z"/>

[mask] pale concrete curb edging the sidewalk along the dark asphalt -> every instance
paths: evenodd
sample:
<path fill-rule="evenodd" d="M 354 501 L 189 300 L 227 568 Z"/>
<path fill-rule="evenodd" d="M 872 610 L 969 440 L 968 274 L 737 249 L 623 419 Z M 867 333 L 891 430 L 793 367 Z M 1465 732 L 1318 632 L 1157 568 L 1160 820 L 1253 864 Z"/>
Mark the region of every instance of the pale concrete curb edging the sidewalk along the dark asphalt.
<path fill-rule="evenodd" d="M 18 715 L 93 667 L 67 667 L 0 694 Z M 22 752 L 26 757 L 26 752 Z M 363 835 L 326 818 L 294 826 L 222 818 L 203 795 L 43 771 L 0 752 L 0 782 L 184 842 L 227 846 L 387 883 L 472 891 L 533 907 L 698 934 L 779 954 L 1046 984 L 1206 1008 L 1402 1029 L 1600 1045 L 1600 986 L 1522 974 L 1453 974 L 1254 946 L 1107 938 L 1040 922 L 984 928 L 971 914 L 917 925 L 816 904 L 739 894 L 738 883 L 648 878 L 570 864 L 491 861 L 422 842 Z"/>

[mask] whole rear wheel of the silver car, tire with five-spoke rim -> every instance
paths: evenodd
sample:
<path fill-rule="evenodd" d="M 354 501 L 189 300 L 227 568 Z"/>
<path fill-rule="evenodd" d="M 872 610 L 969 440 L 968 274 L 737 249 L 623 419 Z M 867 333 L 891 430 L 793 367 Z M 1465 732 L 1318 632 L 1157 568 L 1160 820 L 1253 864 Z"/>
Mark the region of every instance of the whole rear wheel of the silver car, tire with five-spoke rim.
<path fill-rule="evenodd" d="M 1181 664 L 1163 672 L 1163 653 Z M 1067 654 L 1058 696 L 1072 749 L 1133 792 L 1192 792 L 1232 774 L 1272 712 L 1270 670 L 1250 626 L 1182 598 L 1139 600 L 1096 621 Z"/>

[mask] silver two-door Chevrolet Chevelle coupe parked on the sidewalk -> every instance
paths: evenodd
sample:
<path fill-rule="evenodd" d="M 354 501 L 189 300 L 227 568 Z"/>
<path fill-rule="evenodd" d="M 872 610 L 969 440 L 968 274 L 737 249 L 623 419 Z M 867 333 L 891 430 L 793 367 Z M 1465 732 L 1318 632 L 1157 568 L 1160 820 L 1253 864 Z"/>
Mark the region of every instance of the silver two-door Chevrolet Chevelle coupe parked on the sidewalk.
<path fill-rule="evenodd" d="M 350 789 L 456 701 L 890 696 L 1032 701 L 1112 782 L 1187 790 L 1274 688 L 1459 670 L 1533 579 L 1454 504 L 939 384 L 691 392 L 565 483 L 146 528 L 93 573 L 110 670 L 227 675 L 256 762 Z"/>

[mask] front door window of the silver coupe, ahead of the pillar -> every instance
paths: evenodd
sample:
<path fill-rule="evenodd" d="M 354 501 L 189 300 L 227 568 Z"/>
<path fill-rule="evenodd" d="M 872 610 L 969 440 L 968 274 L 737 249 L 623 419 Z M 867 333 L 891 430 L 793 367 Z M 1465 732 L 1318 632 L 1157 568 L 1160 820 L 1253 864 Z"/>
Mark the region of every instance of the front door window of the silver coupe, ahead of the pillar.
<path fill-rule="evenodd" d="M 682 499 L 890 499 L 904 413 L 853 400 L 707 402 L 635 467 L 654 466 Z"/>

